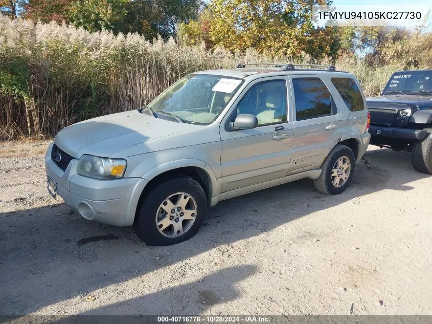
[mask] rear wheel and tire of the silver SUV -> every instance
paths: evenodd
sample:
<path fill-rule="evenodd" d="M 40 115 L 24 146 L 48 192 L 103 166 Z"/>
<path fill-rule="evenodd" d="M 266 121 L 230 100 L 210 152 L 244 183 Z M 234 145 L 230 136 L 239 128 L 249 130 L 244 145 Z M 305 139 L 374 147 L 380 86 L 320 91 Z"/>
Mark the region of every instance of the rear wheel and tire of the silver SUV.
<path fill-rule="evenodd" d="M 321 168 L 323 171 L 320 178 L 313 180 L 315 189 L 325 195 L 337 195 L 343 192 L 354 176 L 355 157 L 352 149 L 337 144 L 332 148 Z"/>

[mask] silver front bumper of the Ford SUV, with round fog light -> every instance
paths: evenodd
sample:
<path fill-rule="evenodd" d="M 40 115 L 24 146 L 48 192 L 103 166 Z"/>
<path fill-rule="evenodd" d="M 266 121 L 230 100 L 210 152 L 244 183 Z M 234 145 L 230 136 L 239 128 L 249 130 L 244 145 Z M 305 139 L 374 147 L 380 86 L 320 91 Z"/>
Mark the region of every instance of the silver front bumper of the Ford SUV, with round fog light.
<path fill-rule="evenodd" d="M 47 175 L 56 182 L 57 195 L 82 217 L 116 226 L 131 226 L 141 192 L 148 183 L 142 178 L 100 180 L 77 174 L 73 159 L 63 172 L 51 159 L 51 144 L 45 157 Z"/>

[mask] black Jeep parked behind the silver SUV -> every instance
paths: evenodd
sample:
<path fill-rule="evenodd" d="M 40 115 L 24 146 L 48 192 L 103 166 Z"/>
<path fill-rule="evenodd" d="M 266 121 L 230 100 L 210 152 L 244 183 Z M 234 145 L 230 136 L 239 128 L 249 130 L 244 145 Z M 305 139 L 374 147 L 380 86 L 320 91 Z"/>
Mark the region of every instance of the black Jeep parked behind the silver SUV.
<path fill-rule="evenodd" d="M 371 144 L 411 152 L 419 172 L 432 174 L 432 70 L 395 72 L 379 97 L 366 99 Z"/>

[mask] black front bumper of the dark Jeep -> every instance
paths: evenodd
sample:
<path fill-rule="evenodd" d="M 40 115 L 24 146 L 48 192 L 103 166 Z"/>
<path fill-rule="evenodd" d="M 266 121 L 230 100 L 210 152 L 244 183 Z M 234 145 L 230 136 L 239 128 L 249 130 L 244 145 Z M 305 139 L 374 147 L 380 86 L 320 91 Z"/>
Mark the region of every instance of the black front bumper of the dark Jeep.
<path fill-rule="evenodd" d="M 426 137 L 425 129 L 411 129 L 398 127 L 382 127 L 371 125 L 369 133 L 372 135 L 371 142 L 380 142 L 382 140 L 405 140 L 405 141 L 422 141 Z"/>

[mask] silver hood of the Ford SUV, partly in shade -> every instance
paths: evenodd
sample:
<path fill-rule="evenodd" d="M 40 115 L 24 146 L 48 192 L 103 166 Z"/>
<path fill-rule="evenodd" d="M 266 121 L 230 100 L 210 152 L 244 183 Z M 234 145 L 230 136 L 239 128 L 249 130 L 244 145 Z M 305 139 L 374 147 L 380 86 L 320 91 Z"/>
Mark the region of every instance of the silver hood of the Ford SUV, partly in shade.
<path fill-rule="evenodd" d="M 135 110 L 88 119 L 68 126 L 57 134 L 54 142 L 77 159 L 84 154 L 108 157 L 132 145 L 199 127 L 202 126 L 156 118 Z"/>

